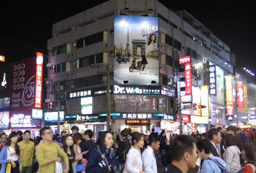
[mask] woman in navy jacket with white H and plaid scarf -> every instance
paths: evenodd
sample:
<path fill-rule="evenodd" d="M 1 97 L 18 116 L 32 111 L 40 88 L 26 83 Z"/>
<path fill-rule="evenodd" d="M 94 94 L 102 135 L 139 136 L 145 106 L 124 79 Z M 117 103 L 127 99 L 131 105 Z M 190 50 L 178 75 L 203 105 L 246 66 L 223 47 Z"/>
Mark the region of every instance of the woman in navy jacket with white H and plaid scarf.
<path fill-rule="evenodd" d="M 119 162 L 112 148 L 113 138 L 109 131 L 101 132 L 95 144 L 95 150 L 90 154 L 85 172 L 116 173 L 120 172 Z"/>

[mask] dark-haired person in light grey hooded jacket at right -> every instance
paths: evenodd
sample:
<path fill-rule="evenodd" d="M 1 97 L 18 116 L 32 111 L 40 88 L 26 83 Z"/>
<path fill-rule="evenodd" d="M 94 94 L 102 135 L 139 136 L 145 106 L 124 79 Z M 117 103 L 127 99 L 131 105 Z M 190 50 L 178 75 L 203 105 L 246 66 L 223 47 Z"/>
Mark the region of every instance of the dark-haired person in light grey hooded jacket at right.
<path fill-rule="evenodd" d="M 229 173 L 242 173 L 240 165 L 240 150 L 236 146 L 235 137 L 232 134 L 224 135 L 224 143 L 227 147 L 223 154 L 223 160 L 226 162 Z"/>

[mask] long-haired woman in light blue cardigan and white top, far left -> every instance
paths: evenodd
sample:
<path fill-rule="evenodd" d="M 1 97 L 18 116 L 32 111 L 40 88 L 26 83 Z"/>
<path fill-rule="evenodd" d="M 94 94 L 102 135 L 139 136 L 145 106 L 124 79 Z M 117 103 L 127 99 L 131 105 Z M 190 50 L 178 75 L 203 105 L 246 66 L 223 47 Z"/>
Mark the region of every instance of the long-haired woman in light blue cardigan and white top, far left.
<path fill-rule="evenodd" d="M 22 165 L 20 161 L 21 148 L 17 144 L 18 133 L 11 132 L 6 145 L 2 148 L 0 153 L 0 164 L 2 168 L 0 172 L 5 172 L 6 164 L 11 163 L 11 172 L 20 173 L 22 171 Z"/>

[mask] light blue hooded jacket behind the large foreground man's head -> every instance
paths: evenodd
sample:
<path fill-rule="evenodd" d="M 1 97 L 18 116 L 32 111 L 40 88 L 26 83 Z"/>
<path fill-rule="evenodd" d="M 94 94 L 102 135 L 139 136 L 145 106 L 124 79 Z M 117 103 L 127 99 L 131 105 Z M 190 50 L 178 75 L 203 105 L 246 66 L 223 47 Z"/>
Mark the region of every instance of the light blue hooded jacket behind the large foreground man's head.
<path fill-rule="evenodd" d="M 222 170 L 226 170 L 227 165 L 219 157 L 207 157 L 201 168 L 200 173 L 222 173 Z"/>

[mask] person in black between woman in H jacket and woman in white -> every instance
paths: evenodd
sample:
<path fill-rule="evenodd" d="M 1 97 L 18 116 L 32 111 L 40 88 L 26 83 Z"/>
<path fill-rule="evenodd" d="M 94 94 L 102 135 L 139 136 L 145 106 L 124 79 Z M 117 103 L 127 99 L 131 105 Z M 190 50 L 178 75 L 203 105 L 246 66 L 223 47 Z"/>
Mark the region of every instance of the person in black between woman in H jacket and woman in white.
<path fill-rule="evenodd" d="M 121 131 L 121 141 L 118 144 L 118 148 L 116 149 L 116 157 L 118 157 L 119 164 L 122 170 L 124 165 L 126 165 L 126 143 L 129 143 L 128 132 L 124 129 Z"/>

